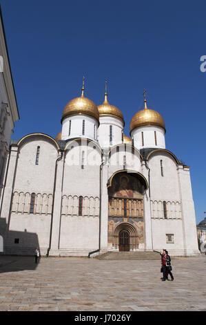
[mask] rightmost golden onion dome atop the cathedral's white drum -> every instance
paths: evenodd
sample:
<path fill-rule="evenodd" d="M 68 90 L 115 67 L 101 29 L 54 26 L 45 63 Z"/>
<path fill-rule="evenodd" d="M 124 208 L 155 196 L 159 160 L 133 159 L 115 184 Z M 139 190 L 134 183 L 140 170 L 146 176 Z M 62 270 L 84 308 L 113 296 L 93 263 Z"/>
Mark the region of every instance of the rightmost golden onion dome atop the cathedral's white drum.
<path fill-rule="evenodd" d="M 147 102 L 145 100 L 145 108 L 138 111 L 130 122 L 130 132 L 136 127 L 143 127 L 145 125 L 156 125 L 156 127 L 162 127 L 165 129 L 165 122 L 157 111 L 147 108 Z"/>

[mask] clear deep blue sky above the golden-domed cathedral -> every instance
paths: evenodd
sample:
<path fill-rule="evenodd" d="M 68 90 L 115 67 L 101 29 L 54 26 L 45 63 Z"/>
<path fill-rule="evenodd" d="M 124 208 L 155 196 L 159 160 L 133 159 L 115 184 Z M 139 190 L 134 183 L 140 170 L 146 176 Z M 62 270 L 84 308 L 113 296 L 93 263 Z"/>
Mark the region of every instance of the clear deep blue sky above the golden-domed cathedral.
<path fill-rule="evenodd" d="M 121 109 L 125 134 L 147 106 L 163 116 L 166 148 L 191 166 L 197 223 L 204 218 L 206 2 L 0 0 L 19 106 L 12 139 L 55 138 L 65 104 L 85 95 Z"/>

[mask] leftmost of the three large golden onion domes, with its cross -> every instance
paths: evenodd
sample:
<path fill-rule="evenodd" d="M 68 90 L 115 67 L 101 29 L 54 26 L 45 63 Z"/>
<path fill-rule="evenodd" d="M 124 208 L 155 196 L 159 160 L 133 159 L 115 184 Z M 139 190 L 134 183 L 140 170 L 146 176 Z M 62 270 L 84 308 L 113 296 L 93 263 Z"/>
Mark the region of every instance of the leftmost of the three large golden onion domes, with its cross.
<path fill-rule="evenodd" d="M 76 114 L 90 115 L 92 118 L 96 118 L 99 122 L 99 110 L 92 100 L 84 97 L 84 86 L 82 87 L 81 97 L 76 97 L 66 104 L 63 109 L 61 121 L 63 118 Z"/>

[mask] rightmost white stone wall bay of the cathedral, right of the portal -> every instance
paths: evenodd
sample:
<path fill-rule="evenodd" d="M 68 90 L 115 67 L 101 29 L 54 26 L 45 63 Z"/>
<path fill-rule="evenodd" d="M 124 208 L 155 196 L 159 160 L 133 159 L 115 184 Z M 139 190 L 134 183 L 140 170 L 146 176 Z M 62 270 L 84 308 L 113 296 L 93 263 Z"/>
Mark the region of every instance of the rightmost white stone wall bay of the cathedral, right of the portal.
<path fill-rule="evenodd" d="M 163 151 L 152 154 L 148 166 L 153 249 L 165 248 L 171 255 L 198 254 L 189 169 L 177 165 L 174 158 Z M 166 216 L 163 201 L 166 203 Z M 168 236 L 172 242 L 167 240 Z"/>

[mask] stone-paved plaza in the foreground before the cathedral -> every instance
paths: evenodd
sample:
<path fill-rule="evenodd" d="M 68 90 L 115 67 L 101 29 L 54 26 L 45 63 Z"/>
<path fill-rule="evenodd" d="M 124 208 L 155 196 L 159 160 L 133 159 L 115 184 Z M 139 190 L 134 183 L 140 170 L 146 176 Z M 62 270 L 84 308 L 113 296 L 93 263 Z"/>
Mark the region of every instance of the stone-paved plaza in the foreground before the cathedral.
<path fill-rule="evenodd" d="M 0 256 L 0 310 L 206 310 L 206 255 L 172 266 L 163 282 L 158 260 Z"/>

